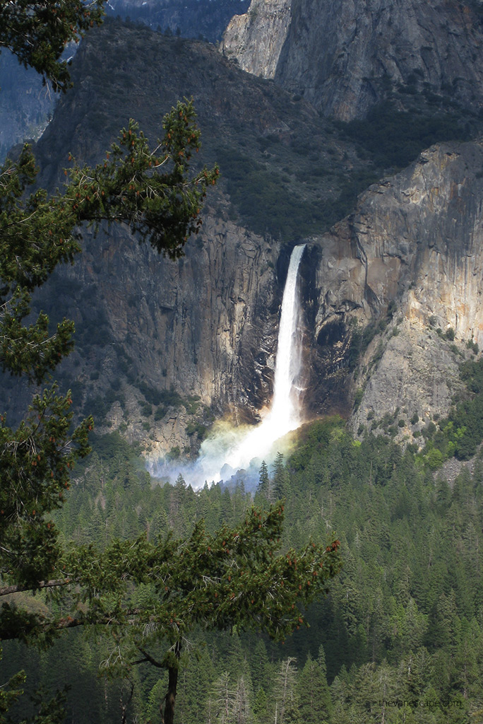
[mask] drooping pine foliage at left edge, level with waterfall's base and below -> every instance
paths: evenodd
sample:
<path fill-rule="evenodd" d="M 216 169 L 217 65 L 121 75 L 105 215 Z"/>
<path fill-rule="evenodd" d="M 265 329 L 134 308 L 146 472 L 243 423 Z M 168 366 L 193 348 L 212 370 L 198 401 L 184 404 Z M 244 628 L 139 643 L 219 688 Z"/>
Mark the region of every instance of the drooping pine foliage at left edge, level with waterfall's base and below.
<path fill-rule="evenodd" d="M 56 571 L 57 531 L 46 514 L 64 502 L 74 462 L 88 450 L 92 418 L 71 429 L 70 392 L 35 395 L 17 430 L 0 416 L 0 572 L 34 589 Z"/>

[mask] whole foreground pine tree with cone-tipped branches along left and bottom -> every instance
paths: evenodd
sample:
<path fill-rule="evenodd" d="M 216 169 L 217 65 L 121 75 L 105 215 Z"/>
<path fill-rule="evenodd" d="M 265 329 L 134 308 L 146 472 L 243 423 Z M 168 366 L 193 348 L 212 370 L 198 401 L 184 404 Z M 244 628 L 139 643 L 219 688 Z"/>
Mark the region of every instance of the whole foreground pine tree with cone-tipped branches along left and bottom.
<path fill-rule="evenodd" d="M 3 4 L 0 46 L 9 46 L 10 34 L 25 30 L 24 45 L 19 41 L 14 51 L 63 90 L 68 83 L 59 61 L 64 41 L 100 19 L 94 8 L 101 2 L 59 0 L 38 13 L 45 5 L 34 3 L 30 12 L 20 0 Z M 74 30 L 64 22 L 69 17 Z M 41 189 L 29 193 L 37 169 L 28 146 L 17 161 L 7 159 L 0 169 L 1 369 L 41 385 L 72 350 L 72 321 L 62 321 L 51 334 L 46 314 L 30 319 L 30 301 L 58 264 L 72 263 L 80 253 L 76 230 L 81 224 L 126 222 L 140 240 L 171 258 L 180 256 L 189 234 L 200 229 L 202 201 L 218 169 L 189 171 L 200 141 L 192 104 L 172 109 L 163 132 L 150 151 L 137 125 L 129 122 L 103 163 L 80 167 L 70 159 L 64 190 L 51 196 Z M 87 454 L 93 426 L 87 418 L 72 429 L 71 405 L 70 392 L 60 395 L 51 384 L 33 396 L 16 429 L 0 416 L 0 595 L 47 589 L 60 603 L 48 615 L 4 603 L 0 637 L 48 644 L 65 629 L 104 628 L 112 647 L 105 668 L 113 675 L 143 662 L 167 671 L 163 718 L 172 724 L 187 634 L 198 627 L 237 626 L 274 638 L 288 635 L 306 623 L 305 607 L 325 592 L 338 571 L 339 542 L 309 543 L 281 554 L 283 507 L 278 505 L 265 513 L 251 509 L 239 526 L 222 526 L 215 534 L 199 523 L 185 538 L 141 536 L 104 550 L 93 544 L 64 550 L 50 514 L 64 502 L 70 472 Z M 181 487 L 180 481 L 179 491 L 188 492 Z M 228 503 L 227 518 L 231 500 L 220 496 L 220 510 Z M 98 515 L 102 520 L 99 509 Z M 128 527 L 133 526 L 134 518 Z M 69 615 L 64 605 L 70 606 Z M 4 711 L 19 695 L 20 679 L 0 690 Z M 246 712 L 247 686 L 244 681 L 235 688 L 240 716 Z M 129 691 L 122 700 L 124 713 Z M 47 721 L 45 715 L 43 709 L 37 721 Z M 54 715 L 51 720 L 56 721 Z"/>

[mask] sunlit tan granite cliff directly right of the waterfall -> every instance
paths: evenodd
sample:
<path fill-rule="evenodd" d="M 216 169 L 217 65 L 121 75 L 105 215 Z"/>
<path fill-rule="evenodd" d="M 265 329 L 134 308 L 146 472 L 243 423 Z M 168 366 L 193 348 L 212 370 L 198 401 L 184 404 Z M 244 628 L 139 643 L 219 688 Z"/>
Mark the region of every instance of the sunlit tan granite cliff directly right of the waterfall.
<path fill-rule="evenodd" d="M 362 345 L 354 426 L 396 408 L 422 419 L 448 410 L 458 384 L 448 339 L 454 332 L 456 342 L 483 342 L 482 164 L 481 142 L 432 147 L 369 188 L 356 212 L 309 250 L 317 381 L 309 409 L 330 407 L 337 383 L 347 392 L 351 340 L 354 355 L 358 327 L 380 321 Z"/>

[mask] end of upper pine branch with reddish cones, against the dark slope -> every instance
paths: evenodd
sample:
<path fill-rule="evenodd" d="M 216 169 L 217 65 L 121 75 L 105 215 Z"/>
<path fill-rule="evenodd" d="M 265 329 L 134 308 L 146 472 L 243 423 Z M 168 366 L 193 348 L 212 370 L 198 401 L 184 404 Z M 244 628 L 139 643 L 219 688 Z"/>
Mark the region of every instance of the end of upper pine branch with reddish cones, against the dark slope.
<path fill-rule="evenodd" d="M 200 131 L 192 102 L 178 102 L 163 119 L 163 140 L 155 151 L 137 124 L 121 130 L 106 161 L 95 169 L 74 166 L 64 193 L 63 214 L 76 223 L 124 219 L 142 240 L 171 258 L 181 256 L 188 235 L 197 233 L 200 207 L 208 185 L 214 185 L 218 167 L 205 167 L 187 179 Z"/>

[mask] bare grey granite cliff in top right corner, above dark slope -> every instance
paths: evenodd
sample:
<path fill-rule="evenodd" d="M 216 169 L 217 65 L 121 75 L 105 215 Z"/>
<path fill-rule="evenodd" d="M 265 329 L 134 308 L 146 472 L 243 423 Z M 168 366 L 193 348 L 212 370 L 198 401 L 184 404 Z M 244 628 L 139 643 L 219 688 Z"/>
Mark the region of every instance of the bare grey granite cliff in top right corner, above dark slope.
<path fill-rule="evenodd" d="M 414 80 L 446 90 L 466 109 L 482 107 L 483 32 L 474 3 L 288 0 L 273 11 L 263 3 L 263 12 L 260 4 L 252 0 L 243 18 L 231 20 L 224 51 L 325 115 L 362 117 L 388 86 Z"/>

